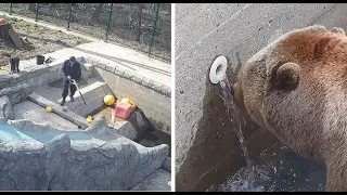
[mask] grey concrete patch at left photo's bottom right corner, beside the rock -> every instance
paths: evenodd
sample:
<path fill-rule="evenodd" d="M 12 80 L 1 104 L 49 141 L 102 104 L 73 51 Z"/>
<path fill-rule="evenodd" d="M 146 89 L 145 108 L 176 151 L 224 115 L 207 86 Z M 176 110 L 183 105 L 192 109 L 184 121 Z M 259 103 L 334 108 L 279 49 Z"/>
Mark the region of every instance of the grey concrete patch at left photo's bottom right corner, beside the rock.
<path fill-rule="evenodd" d="M 171 186 L 168 184 L 170 181 L 171 173 L 164 169 L 158 169 L 130 188 L 130 191 L 171 191 Z"/>

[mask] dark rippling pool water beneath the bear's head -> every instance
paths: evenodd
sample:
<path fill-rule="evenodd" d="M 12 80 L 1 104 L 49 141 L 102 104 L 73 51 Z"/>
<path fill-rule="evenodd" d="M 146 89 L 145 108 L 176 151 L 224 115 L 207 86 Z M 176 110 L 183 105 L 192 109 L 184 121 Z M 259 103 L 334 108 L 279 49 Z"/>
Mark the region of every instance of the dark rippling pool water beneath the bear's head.
<path fill-rule="evenodd" d="M 256 159 L 254 169 L 254 188 L 247 187 L 248 168 L 245 166 L 213 190 L 217 192 L 322 192 L 326 182 L 324 165 L 295 154 L 282 143 L 262 151 Z"/>

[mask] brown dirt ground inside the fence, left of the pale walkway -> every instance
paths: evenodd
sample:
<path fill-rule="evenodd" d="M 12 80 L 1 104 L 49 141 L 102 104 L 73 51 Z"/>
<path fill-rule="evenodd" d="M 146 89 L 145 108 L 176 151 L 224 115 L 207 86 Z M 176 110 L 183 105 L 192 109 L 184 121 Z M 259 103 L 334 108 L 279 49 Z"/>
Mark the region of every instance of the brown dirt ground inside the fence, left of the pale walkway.
<path fill-rule="evenodd" d="M 28 23 L 15 17 L 0 15 L 12 24 L 14 30 L 25 39 L 22 49 L 13 43 L 0 39 L 0 74 L 8 73 L 9 57 L 18 56 L 21 61 L 30 60 L 36 55 L 51 53 L 64 48 L 75 47 L 90 42 L 87 39 L 53 30 L 34 23 Z"/>

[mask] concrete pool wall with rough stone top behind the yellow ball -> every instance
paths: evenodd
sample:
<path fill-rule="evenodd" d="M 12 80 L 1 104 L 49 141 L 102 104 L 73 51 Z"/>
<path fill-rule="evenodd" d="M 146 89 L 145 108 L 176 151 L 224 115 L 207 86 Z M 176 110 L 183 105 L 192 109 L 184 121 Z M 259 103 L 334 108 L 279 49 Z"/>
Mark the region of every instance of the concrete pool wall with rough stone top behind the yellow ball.
<path fill-rule="evenodd" d="M 86 58 L 118 98 L 131 99 L 156 130 L 171 133 L 171 89 L 121 67 Z"/>

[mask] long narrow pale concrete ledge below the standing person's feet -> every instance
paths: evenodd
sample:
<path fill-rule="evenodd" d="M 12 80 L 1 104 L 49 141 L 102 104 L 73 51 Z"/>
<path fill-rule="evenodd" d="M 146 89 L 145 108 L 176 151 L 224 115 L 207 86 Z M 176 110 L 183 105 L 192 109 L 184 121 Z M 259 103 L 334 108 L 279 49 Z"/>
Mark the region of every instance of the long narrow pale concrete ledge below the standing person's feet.
<path fill-rule="evenodd" d="M 77 126 L 80 126 L 82 129 L 86 129 L 89 123 L 87 123 L 86 119 L 70 110 L 66 110 L 64 112 L 63 110 L 63 107 L 55 104 L 54 102 L 51 102 L 47 99 L 44 99 L 43 96 L 40 96 L 36 93 L 31 93 L 28 99 L 31 101 L 31 102 L 35 102 L 37 103 L 38 105 L 42 106 L 42 107 L 47 107 L 47 106 L 51 106 L 52 107 L 52 112 L 57 114 L 59 116 L 65 118 L 66 120 L 69 120 L 74 123 L 76 123 Z"/>

